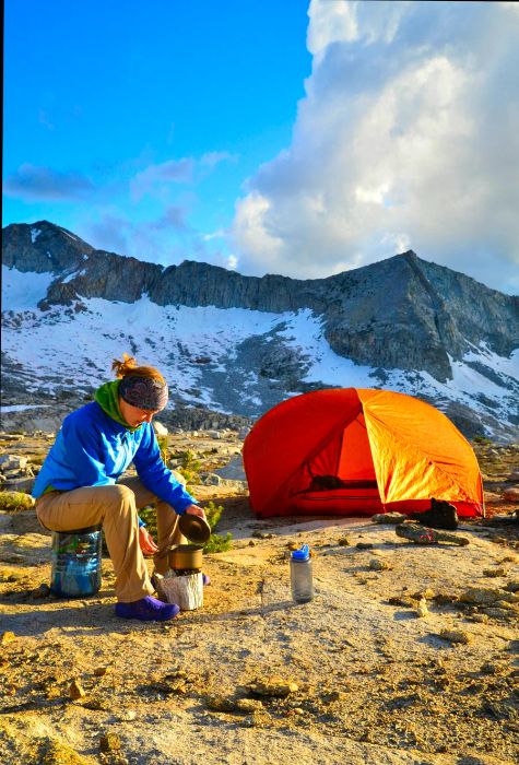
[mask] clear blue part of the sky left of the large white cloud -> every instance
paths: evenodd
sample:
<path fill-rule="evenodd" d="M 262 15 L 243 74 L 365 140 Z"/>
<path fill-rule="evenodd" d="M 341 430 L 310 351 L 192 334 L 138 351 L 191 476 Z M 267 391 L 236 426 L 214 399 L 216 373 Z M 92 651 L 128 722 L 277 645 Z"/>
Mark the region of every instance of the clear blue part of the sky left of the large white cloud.
<path fill-rule="evenodd" d="M 128 219 L 162 226 L 132 255 L 166 262 L 168 233 L 191 257 L 194 232 L 228 226 L 241 184 L 290 143 L 306 12 L 305 0 L 8 0 L 3 223 L 45 217 L 132 249 Z M 225 260 L 214 240 L 197 244 Z"/>

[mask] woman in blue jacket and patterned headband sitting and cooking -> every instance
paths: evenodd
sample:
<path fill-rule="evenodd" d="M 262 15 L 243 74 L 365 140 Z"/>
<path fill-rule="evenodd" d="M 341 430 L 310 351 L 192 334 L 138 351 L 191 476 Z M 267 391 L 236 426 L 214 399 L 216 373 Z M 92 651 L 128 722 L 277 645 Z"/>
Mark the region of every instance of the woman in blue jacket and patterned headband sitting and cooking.
<path fill-rule="evenodd" d="M 116 614 L 162 622 L 179 608 L 152 597 L 143 553 L 153 554 L 155 570 L 164 573 L 169 548 L 185 541 L 178 516 L 205 515 L 161 458 L 151 422 L 167 403 L 166 380 L 127 354 L 111 368 L 119 379 L 102 385 L 95 401 L 63 420 L 34 485 L 36 514 L 52 531 L 102 523 L 116 573 Z M 118 481 L 131 462 L 138 476 Z M 138 516 L 150 504 L 158 544 Z"/>

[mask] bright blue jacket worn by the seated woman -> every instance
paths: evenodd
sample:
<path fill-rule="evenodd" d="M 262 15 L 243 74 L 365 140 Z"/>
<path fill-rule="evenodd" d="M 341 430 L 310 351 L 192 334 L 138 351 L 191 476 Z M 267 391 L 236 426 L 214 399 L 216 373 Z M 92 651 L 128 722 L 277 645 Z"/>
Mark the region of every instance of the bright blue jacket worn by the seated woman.
<path fill-rule="evenodd" d="M 125 427 L 93 401 L 69 414 L 38 473 L 35 498 L 51 486 L 70 491 L 81 486 L 107 486 L 133 462 L 144 486 L 184 515 L 196 504 L 166 468 L 151 423 Z"/>

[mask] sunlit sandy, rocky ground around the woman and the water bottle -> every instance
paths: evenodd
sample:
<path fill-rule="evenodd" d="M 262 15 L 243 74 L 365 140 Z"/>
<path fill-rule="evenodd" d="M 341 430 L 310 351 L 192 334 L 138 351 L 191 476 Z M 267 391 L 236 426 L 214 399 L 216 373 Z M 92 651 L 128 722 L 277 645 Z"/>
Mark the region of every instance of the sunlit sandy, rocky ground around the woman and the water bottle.
<path fill-rule="evenodd" d="M 514 459 L 484 468 L 489 516 L 517 506 L 499 494 Z M 244 491 L 191 491 L 224 506 L 234 545 L 205 556 L 203 609 L 165 624 L 116 619 L 107 557 L 97 596 L 49 596 L 49 536 L 33 510 L 0 515 L 2 764 L 517 762 L 518 525 L 418 546 L 369 518 L 259 521 Z M 298 605 L 303 542 L 316 597 Z"/>

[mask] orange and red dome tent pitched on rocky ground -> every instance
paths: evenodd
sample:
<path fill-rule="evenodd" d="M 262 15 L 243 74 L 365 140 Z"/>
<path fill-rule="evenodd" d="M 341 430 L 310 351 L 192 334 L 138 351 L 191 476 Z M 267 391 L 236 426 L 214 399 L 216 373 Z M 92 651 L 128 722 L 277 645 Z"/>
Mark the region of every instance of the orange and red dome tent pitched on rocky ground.
<path fill-rule="evenodd" d="M 445 414 L 404 393 L 334 388 L 283 401 L 250 431 L 244 466 L 263 518 L 414 513 L 432 497 L 460 517 L 484 514 L 471 445 Z"/>

